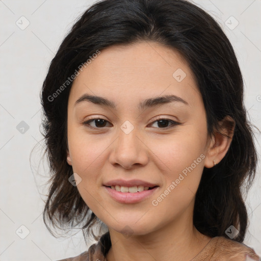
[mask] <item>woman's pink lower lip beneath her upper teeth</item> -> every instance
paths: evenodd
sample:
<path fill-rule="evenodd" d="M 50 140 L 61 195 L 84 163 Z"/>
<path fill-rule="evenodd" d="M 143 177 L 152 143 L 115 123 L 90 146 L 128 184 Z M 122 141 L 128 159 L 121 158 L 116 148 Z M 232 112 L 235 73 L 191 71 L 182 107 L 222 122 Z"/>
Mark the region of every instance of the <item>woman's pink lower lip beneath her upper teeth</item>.
<path fill-rule="evenodd" d="M 105 187 L 106 191 L 110 194 L 110 196 L 120 203 L 137 203 L 142 201 L 145 198 L 151 196 L 159 187 L 155 187 L 151 190 L 144 190 L 141 192 L 119 192 L 111 189 L 110 187 Z"/>

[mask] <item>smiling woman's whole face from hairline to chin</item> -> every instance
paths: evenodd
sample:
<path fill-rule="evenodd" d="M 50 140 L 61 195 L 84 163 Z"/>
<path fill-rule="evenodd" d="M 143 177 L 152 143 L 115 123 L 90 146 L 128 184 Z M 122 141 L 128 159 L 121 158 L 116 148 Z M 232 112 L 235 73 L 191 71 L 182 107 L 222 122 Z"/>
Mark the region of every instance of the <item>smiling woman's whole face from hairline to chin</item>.
<path fill-rule="evenodd" d="M 79 72 L 68 101 L 67 162 L 92 212 L 109 228 L 135 234 L 191 219 L 208 141 L 188 64 L 166 46 L 140 42 L 102 50 Z M 114 107 L 76 102 L 83 95 Z M 129 187 L 134 193 L 124 192 Z"/>

